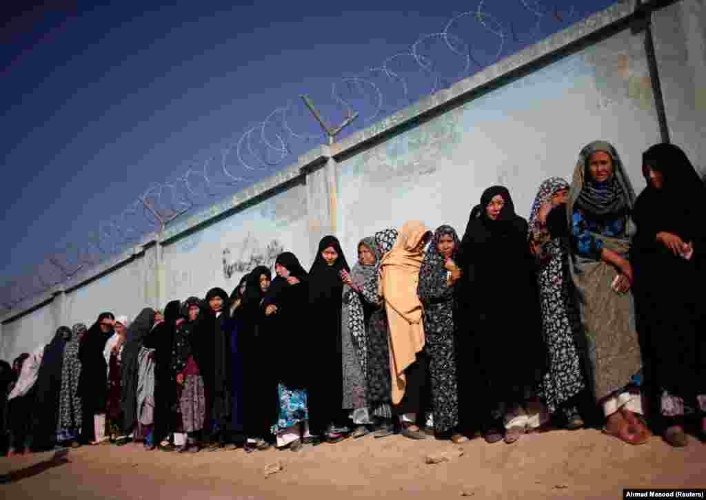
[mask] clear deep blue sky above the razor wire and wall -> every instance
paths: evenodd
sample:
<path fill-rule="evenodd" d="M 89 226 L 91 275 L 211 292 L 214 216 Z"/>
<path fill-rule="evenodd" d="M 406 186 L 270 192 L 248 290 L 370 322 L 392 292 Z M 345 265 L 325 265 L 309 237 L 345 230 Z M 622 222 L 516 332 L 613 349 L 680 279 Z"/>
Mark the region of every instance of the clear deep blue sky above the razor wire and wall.
<path fill-rule="evenodd" d="M 300 93 L 309 94 L 328 121 L 340 121 L 331 83 L 380 65 L 420 35 L 440 32 L 450 18 L 478 5 L 477 0 L 360 0 L 351 6 L 330 1 L 59 3 L 71 4 L 71 10 L 32 7 L 29 1 L 18 2 L 15 11 L 4 8 L 0 286 L 29 272 L 56 248 L 84 243 L 100 221 L 121 213 L 150 183 L 174 178 L 190 161 L 217 154 Z M 486 10 L 505 27 L 505 56 L 613 3 L 525 0 L 528 9 L 521 0 L 492 0 Z M 551 15 L 556 7 L 558 17 Z M 532 9 L 546 13 L 539 31 Z M 481 64 L 498 47 L 498 37 L 469 18 L 452 33 L 474 44 Z M 462 76 L 460 59 L 448 49 L 429 43 L 424 50 L 443 74 Z M 409 60 L 395 66 L 405 75 L 416 69 Z M 430 83 L 429 78 L 410 79 L 412 101 Z M 383 114 L 405 104 L 399 87 L 390 89 L 383 89 Z M 372 109 L 366 99 L 357 109 Z M 299 133 L 319 133 L 297 106 L 292 126 Z M 359 120 L 356 127 L 368 124 Z M 318 142 L 289 139 L 293 154 L 280 167 Z M 229 166 L 237 173 L 237 161 Z M 246 183 L 277 168 L 244 171 Z M 233 193 L 246 183 L 218 192 Z"/>

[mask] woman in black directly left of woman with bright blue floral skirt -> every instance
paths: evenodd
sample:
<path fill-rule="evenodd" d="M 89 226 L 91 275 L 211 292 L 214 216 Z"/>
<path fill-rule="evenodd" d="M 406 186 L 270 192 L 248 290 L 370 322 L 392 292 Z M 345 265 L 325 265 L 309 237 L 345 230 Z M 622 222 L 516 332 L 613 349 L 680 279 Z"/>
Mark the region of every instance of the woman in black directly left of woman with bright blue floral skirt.
<path fill-rule="evenodd" d="M 261 305 L 265 292 L 270 287 L 272 273 L 265 266 L 258 266 L 248 275 L 245 293 L 236 310 L 237 351 L 242 362 L 240 377 L 242 383 L 242 429 L 246 437 L 246 452 L 266 449 L 265 438 L 270 435 L 273 423 L 275 397 L 272 367 L 263 363 L 263 353 L 271 346 L 263 338 L 260 324 L 263 319 Z"/>

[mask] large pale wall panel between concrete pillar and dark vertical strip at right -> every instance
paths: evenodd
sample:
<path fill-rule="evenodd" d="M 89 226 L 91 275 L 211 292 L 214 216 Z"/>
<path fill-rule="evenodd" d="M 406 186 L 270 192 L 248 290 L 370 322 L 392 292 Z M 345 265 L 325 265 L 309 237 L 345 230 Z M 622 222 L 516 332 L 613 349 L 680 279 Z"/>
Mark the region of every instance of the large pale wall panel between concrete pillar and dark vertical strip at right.
<path fill-rule="evenodd" d="M 337 233 L 347 250 L 409 219 L 462 234 L 493 184 L 528 217 L 539 184 L 570 181 L 597 139 L 613 142 L 641 190 L 640 156 L 659 141 L 642 34 L 620 32 L 342 162 Z"/>

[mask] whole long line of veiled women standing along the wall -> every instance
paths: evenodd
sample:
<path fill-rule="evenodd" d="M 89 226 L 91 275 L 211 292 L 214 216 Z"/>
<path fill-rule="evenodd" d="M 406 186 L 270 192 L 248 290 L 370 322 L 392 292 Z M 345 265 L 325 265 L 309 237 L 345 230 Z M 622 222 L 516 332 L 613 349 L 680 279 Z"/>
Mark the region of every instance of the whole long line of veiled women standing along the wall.
<path fill-rule="evenodd" d="M 528 221 L 493 186 L 462 238 L 408 221 L 361 240 L 350 267 L 326 236 L 309 272 L 284 252 L 274 279 L 257 267 L 230 296 L 62 327 L 16 360 L 10 453 L 511 444 L 550 425 L 686 446 L 693 423 L 706 439 L 706 188 L 674 145 L 642 164 L 635 197 L 616 149 L 592 142 Z"/>

